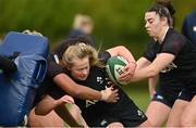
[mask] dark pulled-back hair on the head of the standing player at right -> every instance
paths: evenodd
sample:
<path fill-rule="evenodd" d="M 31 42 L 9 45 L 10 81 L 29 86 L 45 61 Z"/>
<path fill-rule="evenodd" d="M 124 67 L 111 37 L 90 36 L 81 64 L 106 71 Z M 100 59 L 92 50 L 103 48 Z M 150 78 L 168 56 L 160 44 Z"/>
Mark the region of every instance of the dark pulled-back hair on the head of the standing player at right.
<path fill-rule="evenodd" d="M 169 26 L 172 26 L 172 17 L 169 10 L 166 7 L 156 3 L 151 8 L 149 8 L 147 12 L 156 12 L 160 17 L 167 17 Z"/>

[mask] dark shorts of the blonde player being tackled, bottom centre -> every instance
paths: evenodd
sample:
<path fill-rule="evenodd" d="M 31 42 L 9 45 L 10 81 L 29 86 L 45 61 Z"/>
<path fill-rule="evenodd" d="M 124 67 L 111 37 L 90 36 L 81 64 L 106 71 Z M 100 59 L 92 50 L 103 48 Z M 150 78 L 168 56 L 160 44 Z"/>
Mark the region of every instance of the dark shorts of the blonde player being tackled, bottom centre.
<path fill-rule="evenodd" d="M 147 120 L 146 115 L 133 101 L 119 103 L 118 108 L 111 108 L 102 115 L 83 115 L 83 117 L 89 127 L 107 127 L 117 121 L 123 124 L 124 127 L 136 127 Z"/>

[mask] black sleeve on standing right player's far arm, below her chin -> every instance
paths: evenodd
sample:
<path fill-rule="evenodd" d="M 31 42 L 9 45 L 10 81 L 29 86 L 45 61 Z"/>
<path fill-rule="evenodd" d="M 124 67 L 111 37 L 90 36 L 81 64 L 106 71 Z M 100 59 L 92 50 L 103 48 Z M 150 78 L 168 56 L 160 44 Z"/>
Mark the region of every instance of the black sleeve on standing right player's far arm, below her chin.
<path fill-rule="evenodd" d="M 146 57 L 150 62 L 152 62 L 156 57 L 155 44 L 156 44 L 156 42 L 150 42 L 147 46 L 146 51 L 143 53 L 143 56 Z"/>

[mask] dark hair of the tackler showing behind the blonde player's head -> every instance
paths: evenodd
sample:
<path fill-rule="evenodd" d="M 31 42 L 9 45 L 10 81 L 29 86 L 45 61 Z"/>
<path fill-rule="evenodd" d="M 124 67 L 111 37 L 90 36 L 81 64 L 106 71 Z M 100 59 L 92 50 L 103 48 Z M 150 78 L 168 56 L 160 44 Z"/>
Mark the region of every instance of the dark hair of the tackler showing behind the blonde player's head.
<path fill-rule="evenodd" d="M 52 53 L 53 54 L 57 54 L 58 57 L 60 60 L 62 60 L 62 55 L 64 53 L 64 51 L 72 44 L 76 44 L 76 43 L 79 43 L 79 42 L 83 42 L 83 43 L 86 43 L 86 44 L 90 44 L 93 46 L 93 42 L 90 41 L 90 39 L 85 36 L 85 35 L 81 35 L 78 36 L 77 38 L 69 38 L 64 41 L 62 41 L 60 44 L 58 44 L 53 50 L 52 50 Z"/>

